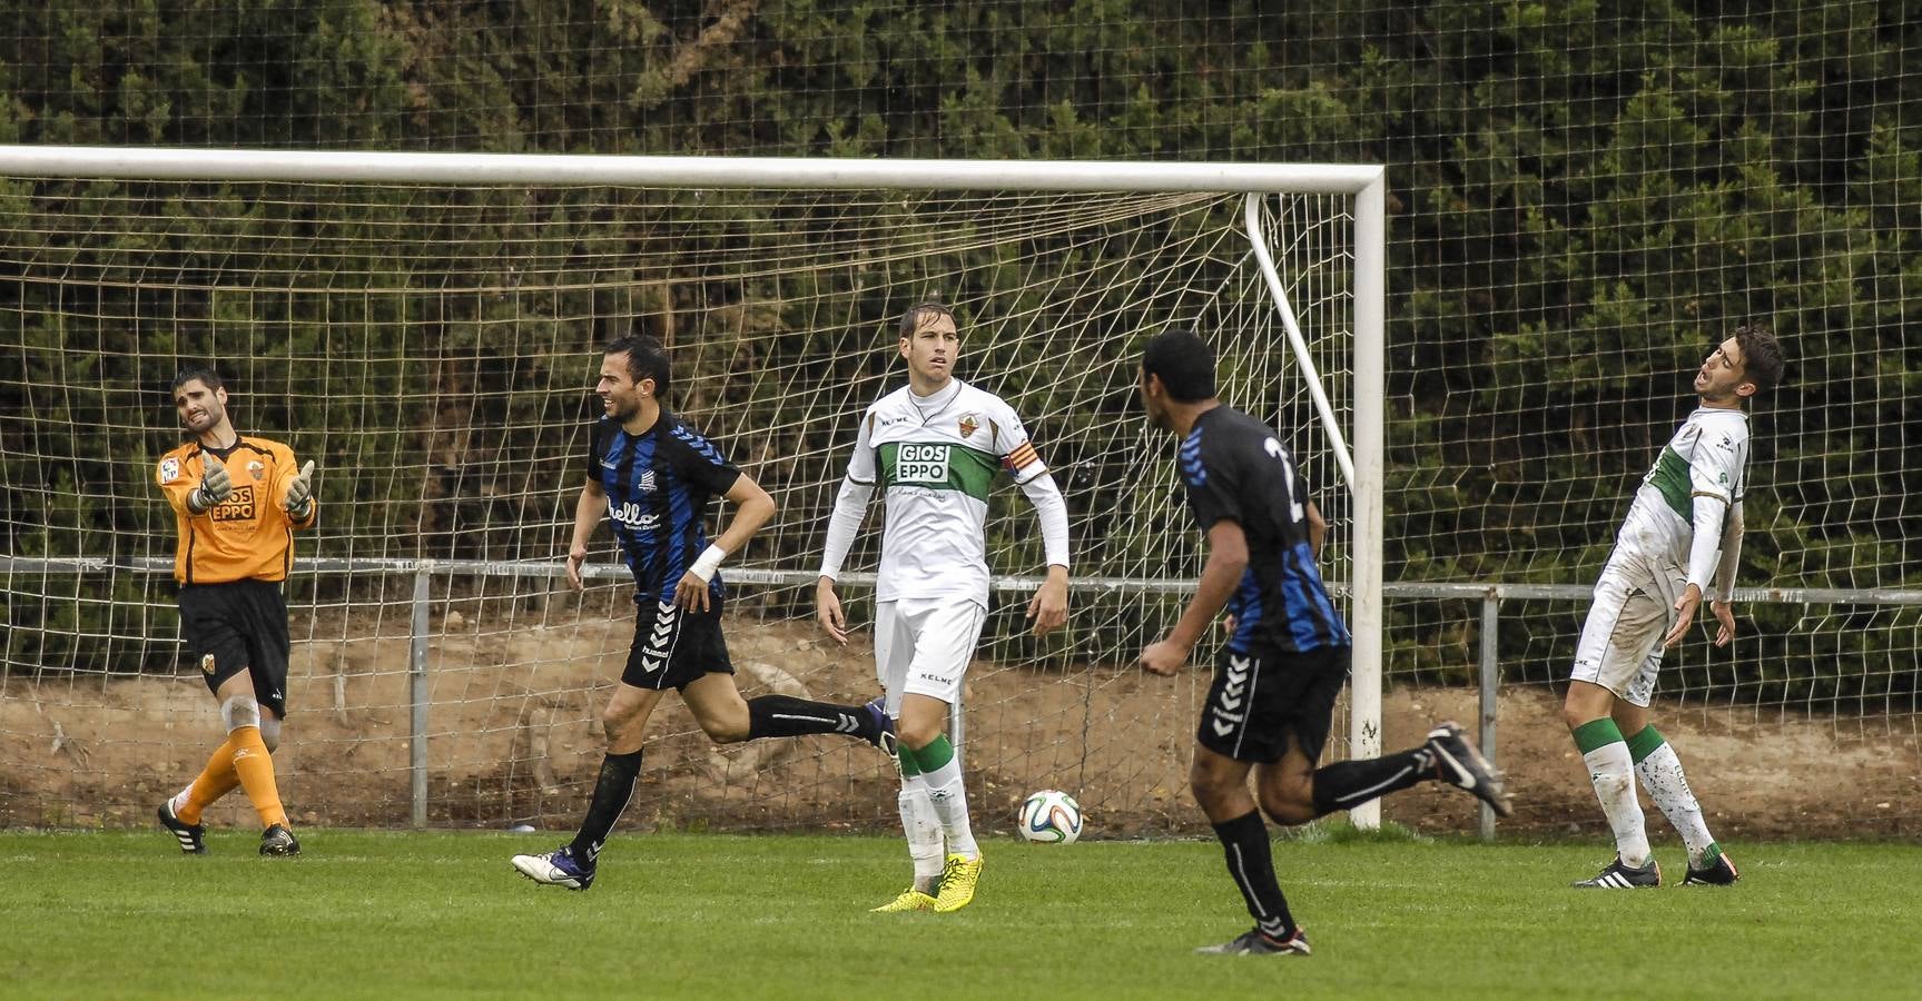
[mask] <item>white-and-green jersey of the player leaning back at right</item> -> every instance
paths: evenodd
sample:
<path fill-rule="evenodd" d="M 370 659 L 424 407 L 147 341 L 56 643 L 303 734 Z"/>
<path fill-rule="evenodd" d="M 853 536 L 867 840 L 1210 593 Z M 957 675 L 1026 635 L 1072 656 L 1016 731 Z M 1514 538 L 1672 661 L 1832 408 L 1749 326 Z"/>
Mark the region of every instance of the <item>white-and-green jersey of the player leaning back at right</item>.
<path fill-rule="evenodd" d="M 1739 409 L 1697 407 L 1641 476 L 1614 548 L 1686 569 L 1695 540 L 1695 498 L 1734 505 L 1747 490 L 1747 465 L 1749 417 Z"/>

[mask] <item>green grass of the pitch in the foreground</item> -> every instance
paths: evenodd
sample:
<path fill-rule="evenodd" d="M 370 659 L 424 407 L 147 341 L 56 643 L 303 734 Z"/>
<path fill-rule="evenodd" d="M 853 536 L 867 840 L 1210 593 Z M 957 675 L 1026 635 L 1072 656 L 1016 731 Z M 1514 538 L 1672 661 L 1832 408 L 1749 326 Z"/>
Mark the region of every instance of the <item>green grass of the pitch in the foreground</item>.
<path fill-rule="evenodd" d="M 1732 845 L 1743 882 L 1574 891 L 1601 845 L 1276 842 L 1309 959 L 1195 957 L 1249 920 L 1213 843 L 986 842 L 957 915 L 869 915 L 898 840 L 615 838 L 588 893 L 507 867 L 555 836 L 0 832 L 10 997 L 1912 997 L 1922 847 Z M 1670 880 L 1678 849 L 1661 855 Z"/>

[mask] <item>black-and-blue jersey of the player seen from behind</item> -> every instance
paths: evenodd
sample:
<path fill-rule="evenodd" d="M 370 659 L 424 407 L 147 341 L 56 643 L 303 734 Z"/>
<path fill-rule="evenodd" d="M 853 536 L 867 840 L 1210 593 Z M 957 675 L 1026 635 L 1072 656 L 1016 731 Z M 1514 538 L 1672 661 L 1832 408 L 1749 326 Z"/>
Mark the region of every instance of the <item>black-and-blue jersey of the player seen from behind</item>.
<path fill-rule="evenodd" d="M 1247 569 L 1228 599 L 1228 649 L 1353 646 L 1315 567 L 1307 478 L 1274 430 L 1234 407 L 1213 407 L 1182 440 L 1180 467 L 1195 525 L 1207 532 L 1232 521 L 1247 538 Z"/>

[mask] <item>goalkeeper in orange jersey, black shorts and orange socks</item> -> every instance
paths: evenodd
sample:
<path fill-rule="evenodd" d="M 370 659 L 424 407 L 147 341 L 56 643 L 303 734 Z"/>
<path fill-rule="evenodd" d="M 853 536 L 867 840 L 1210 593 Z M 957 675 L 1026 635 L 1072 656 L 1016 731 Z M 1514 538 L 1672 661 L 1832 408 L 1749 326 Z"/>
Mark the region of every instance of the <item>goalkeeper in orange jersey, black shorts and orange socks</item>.
<path fill-rule="evenodd" d="M 259 813 L 259 853 L 300 855 L 271 753 L 286 717 L 290 649 L 281 582 L 294 565 L 294 530 L 319 515 L 313 461 L 296 471 L 284 444 L 236 434 L 213 369 L 177 375 L 173 407 L 188 440 L 161 455 L 154 480 L 181 528 L 173 557 L 181 638 L 221 703 L 227 740 L 188 788 L 160 805 L 160 822 L 181 851 L 204 855 L 202 811 L 240 786 Z"/>

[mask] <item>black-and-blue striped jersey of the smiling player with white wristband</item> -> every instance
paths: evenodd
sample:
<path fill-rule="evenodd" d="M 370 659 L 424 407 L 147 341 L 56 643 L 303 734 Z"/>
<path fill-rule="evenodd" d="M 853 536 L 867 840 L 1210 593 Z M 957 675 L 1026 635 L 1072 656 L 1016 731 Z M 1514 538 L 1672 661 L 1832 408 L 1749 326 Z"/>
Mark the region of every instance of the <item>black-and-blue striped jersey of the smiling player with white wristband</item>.
<path fill-rule="evenodd" d="M 727 494 L 740 469 L 663 409 L 640 434 L 602 417 L 588 442 L 586 476 L 607 494 L 607 521 L 634 571 L 634 601 L 646 605 L 675 599 L 675 584 L 707 548 L 707 501 Z M 719 573 L 707 594 L 721 599 Z"/>

